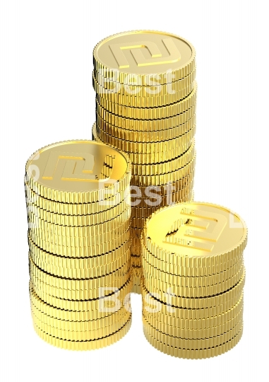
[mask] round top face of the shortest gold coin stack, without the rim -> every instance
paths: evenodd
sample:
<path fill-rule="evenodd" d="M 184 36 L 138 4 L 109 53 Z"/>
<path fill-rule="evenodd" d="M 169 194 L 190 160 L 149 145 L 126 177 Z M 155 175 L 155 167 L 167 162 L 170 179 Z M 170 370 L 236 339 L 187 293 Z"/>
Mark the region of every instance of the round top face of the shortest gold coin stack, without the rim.
<path fill-rule="evenodd" d="M 229 209 L 208 203 L 167 207 L 148 221 L 146 236 L 162 250 L 180 255 L 211 256 L 246 240 L 244 221 Z"/>

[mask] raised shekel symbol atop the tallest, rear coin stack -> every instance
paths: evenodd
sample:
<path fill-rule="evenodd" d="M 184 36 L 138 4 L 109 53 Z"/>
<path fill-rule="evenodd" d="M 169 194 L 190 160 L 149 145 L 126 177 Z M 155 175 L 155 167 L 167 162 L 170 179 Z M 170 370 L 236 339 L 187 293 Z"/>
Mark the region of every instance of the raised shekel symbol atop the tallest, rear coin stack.
<path fill-rule="evenodd" d="M 150 65 L 160 65 L 160 64 L 171 64 L 172 62 L 178 62 L 181 59 L 181 54 L 174 44 L 172 38 L 162 38 L 163 45 L 165 45 L 168 55 L 167 57 L 162 57 L 162 53 L 152 41 L 137 41 L 131 44 L 111 44 L 109 45 L 112 54 L 114 55 L 119 69 L 130 67 L 130 63 L 124 55 L 124 50 L 130 50 L 133 58 L 136 61 L 137 66 L 150 66 Z M 148 49 L 150 52 L 150 58 L 145 58 L 141 48 Z"/>

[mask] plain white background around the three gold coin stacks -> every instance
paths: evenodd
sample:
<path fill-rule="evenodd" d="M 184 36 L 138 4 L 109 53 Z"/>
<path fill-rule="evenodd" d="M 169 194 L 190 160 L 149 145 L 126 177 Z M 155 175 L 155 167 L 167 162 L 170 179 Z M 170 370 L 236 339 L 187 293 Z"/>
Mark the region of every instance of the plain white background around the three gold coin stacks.
<path fill-rule="evenodd" d="M 261 381 L 268 356 L 266 2 L 0 4 L 1 381 Z M 196 47 L 196 200 L 231 208 L 249 227 L 244 335 L 213 359 L 176 359 L 151 347 L 143 337 L 138 295 L 132 296 L 130 332 L 106 349 L 56 349 L 32 328 L 25 161 L 52 142 L 91 137 L 92 49 L 102 38 L 132 29 L 169 31 Z"/>

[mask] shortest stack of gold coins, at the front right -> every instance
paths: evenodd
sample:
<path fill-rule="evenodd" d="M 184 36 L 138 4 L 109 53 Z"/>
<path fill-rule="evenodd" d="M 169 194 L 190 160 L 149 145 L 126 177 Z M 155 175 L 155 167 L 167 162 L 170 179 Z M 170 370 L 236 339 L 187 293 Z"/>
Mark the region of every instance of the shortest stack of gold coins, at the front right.
<path fill-rule="evenodd" d="M 244 221 L 207 203 L 164 207 L 145 223 L 143 330 L 180 358 L 214 357 L 243 332 Z"/>

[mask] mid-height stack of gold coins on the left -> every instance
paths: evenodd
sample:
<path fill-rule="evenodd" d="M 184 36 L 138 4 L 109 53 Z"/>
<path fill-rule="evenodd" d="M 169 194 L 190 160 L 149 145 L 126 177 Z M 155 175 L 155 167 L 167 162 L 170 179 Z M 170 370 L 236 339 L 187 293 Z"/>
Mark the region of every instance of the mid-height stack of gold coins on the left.
<path fill-rule="evenodd" d="M 130 180 L 128 157 L 92 141 L 26 163 L 32 319 L 52 345 L 97 349 L 131 326 Z"/>

